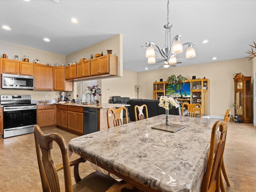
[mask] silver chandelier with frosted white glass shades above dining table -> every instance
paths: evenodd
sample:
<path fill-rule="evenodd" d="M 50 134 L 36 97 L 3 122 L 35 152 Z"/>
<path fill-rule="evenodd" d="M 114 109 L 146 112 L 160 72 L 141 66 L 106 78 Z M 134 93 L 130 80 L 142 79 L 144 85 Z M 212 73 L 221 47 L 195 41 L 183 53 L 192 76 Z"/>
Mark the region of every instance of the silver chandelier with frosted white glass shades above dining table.
<path fill-rule="evenodd" d="M 183 46 L 188 45 L 186 50 L 186 58 L 192 58 L 196 56 L 196 52 L 193 48 L 195 43 L 188 42 L 182 44 L 180 42 L 180 35 L 176 35 L 174 39 L 171 41 L 171 27 L 172 24 L 169 23 L 169 0 L 167 2 L 167 24 L 164 25 L 165 28 L 165 42 L 164 48 L 160 49 L 158 44 L 154 42 L 146 42 L 146 57 L 148 58 L 148 63 L 154 64 L 156 62 L 155 58 L 155 46 L 157 49 L 156 51 L 164 58 L 164 67 L 168 68 L 170 65 L 177 63 L 176 54 L 183 52 Z"/>

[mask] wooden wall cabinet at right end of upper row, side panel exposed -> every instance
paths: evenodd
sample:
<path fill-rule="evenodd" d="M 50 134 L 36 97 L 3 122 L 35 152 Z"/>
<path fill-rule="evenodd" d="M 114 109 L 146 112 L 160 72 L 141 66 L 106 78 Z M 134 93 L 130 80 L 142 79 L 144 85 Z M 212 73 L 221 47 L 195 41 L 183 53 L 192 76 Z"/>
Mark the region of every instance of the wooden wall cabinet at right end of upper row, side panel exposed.
<path fill-rule="evenodd" d="M 90 60 L 90 75 L 117 75 L 117 56 L 107 54 Z"/>

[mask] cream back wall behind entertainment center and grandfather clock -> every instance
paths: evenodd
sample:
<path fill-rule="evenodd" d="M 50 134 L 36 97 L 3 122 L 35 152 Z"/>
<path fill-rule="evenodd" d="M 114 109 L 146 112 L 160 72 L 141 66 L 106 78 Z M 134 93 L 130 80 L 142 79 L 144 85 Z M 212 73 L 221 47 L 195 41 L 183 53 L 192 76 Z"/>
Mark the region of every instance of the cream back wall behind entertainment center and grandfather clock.
<path fill-rule="evenodd" d="M 246 58 L 228 60 L 222 62 L 198 64 L 183 67 L 169 67 L 168 69 L 138 73 L 138 84 L 141 97 L 153 98 L 153 82 L 159 82 L 160 78 L 166 81 L 168 76 L 181 74 L 187 79 L 208 78 L 210 79 L 210 116 L 219 118 L 229 108 L 234 114 L 232 103 L 234 102 L 233 74 L 241 72 L 244 76 L 253 76 L 252 62 Z"/>

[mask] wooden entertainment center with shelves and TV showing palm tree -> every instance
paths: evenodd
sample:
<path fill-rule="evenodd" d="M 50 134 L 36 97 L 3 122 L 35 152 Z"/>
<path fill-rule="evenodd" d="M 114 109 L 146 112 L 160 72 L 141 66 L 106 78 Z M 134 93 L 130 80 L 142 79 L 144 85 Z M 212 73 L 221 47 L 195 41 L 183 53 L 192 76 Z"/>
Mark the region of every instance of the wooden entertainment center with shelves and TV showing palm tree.
<path fill-rule="evenodd" d="M 182 106 L 183 103 L 200 103 L 202 114 L 209 116 L 210 113 L 210 93 L 209 79 L 187 79 L 184 85 L 180 84 L 180 90 L 176 90 L 174 84 L 164 82 L 153 83 L 153 99 L 159 99 L 161 96 L 172 96 Z"/>

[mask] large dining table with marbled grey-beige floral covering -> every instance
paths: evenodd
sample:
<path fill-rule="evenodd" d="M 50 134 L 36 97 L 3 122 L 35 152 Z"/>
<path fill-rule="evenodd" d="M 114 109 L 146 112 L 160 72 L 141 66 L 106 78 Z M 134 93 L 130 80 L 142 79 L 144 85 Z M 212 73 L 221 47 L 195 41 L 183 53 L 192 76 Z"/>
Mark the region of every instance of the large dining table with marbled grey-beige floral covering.
<path fill-rule="evenodd" d="M 73 138 L 68 147 L 137 189 L 200 192 L 216 120 L 169 115 L 166 126 L 162 114 Z"/>

